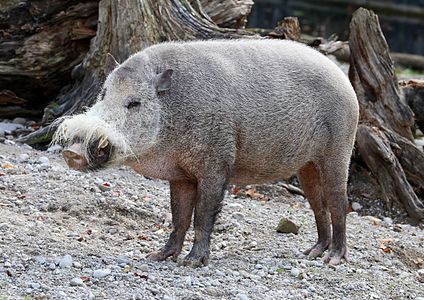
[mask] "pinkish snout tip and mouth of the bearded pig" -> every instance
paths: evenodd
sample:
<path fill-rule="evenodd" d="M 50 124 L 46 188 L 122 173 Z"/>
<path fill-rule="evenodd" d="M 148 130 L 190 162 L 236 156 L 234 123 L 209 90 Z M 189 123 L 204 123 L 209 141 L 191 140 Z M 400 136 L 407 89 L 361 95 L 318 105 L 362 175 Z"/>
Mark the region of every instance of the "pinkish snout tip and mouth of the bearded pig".
<path fill-rule="evenodd" d="M 83 151 L 83 147 L 86 147 L 87 150 Z M 106 167 L 112 153 L 113 146 L 109 140 L 103 138 L 90 143 L 88 146 L 75 141 L 63 150 L 63 157 L 71 169 L 95 171 Z"/>

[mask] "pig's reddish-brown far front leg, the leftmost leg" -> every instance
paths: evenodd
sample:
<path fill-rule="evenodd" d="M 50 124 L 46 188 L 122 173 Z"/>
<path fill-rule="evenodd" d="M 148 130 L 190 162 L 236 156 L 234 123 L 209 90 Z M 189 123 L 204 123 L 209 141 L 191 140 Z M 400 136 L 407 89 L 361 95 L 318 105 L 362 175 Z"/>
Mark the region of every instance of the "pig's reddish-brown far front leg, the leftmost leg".
<path fill-rule="evenodd" d="M 173 231 L 166 245 L 147 258 L 162 261 L 172 256 L 177 259 L 183 246 L 185 234 L 190 227 L 191 216 L 197 195 L 196 183 L 180 180 L 170 182 Z"/>

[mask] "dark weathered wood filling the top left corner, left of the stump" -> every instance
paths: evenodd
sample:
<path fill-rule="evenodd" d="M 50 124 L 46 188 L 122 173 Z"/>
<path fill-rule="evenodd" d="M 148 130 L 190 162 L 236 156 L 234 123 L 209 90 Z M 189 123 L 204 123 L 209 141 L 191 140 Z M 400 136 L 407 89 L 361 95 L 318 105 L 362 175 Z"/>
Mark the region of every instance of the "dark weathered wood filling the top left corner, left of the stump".
<path fill-rule="evenodd" d="M 0 3 L 0 118 L 13 117 L 14 107 L 21 116 L 41 115 L 45 99 L 71 81 L 96 33 L 97 7 L 98 1 L 75 0 Z"/>

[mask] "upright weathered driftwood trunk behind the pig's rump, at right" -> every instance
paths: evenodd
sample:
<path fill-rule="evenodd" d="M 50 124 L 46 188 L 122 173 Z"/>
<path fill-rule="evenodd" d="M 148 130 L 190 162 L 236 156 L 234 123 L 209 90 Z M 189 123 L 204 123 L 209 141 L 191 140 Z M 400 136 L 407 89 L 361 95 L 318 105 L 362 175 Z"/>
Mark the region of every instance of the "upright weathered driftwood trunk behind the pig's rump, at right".
<path fill-rule="evenodd" d="M 388 207 L 400 201 L 408 215 L 424 218 L 424 152 L 414 144 L 413 113 L 399 90 L 378 17 L 358 9 L 350 25 L 349 78 L 358 95 L 361 159 L 381 186 Z"/>

